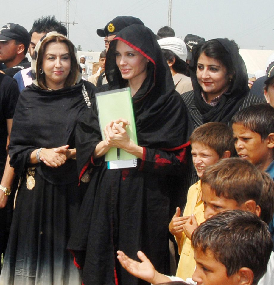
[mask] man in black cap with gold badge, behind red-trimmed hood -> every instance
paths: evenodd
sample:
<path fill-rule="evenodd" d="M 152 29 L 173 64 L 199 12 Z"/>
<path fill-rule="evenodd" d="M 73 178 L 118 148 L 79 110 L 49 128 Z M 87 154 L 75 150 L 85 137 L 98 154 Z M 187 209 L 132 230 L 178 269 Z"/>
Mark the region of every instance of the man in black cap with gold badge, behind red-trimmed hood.
<path fill-rule="evenodd" d="M 132 24 L 139 24 L 144 26 L 144 23 L 139 18 L 132 16 L 118 16 L 108 22 L 104 29 L 97 29 L 97 35 L 99 37 L 104 37 L 104 41 L 107 38 L 109 44 L 118 32 Z M 106 51 L 108 51 L 107 48 Z M 97 87 L 105 83 L 107 83 L 107 80 L 105 78 L 105 72 L 103 72 L 98 78 Z"/>

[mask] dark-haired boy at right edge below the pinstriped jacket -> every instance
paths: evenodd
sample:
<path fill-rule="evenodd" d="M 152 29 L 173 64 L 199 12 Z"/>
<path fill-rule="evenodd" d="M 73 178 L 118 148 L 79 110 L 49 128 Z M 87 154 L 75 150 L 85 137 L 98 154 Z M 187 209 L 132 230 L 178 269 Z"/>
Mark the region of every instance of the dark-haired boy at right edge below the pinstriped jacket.
<path fill-rule="evenodd" d="M 239 157 L 274 179 L 274 108 L 269 104 L 251 105 L 234 115 L 231 122 Z M 269 229 L 274 241 L 274 217 Z"/>

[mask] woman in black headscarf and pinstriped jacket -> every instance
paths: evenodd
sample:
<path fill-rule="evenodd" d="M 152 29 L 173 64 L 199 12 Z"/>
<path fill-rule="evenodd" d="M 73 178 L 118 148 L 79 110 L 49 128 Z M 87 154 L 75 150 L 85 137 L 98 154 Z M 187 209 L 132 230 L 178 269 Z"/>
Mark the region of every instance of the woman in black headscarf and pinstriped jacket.
<path fill-rule="evenodd" d="M 190 133 L 207 122 L 229 124 L 236 112 L 262 102 L 249 94 L 247 70 L 234 41 L 208 40 L 193 47 L 192 53 L 189 69 L 194 90 L 182 94 L 190 117 Z M 198 180 L 192 160 L 184 179 L 185 189 Z"/>

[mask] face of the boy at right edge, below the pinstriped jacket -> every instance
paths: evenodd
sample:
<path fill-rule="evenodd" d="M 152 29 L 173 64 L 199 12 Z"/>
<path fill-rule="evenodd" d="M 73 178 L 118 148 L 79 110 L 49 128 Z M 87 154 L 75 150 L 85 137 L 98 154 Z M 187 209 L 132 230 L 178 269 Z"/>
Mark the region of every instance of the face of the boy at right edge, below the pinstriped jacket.
<path fill-rule="evenodd" d="M 241 123 L 232 125 L 235 149 L 240 158 L 265 170 L 273 160 L 272 149 L 268 148 L 268 139 L 262 141 L 261 135 L 247 129 Z"/>

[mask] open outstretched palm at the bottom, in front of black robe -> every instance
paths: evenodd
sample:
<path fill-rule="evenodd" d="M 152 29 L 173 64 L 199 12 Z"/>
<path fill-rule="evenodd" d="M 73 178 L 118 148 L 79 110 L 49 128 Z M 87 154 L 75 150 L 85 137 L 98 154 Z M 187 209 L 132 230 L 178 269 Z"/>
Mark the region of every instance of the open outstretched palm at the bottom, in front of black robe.
<path fill-rule="evenodd" d="M 122 267 L 124 267 L 124 269 L 133 276 L 143 279 L 152 284 L 171 281 L 167 276 L 155 270 L 153 264 L 142 251 L 137 252 L 137 255 L 141 262 L 129 258 L 124 254 L 123 251 L 117 251 L 117 254 L 117 258 Z"/>

